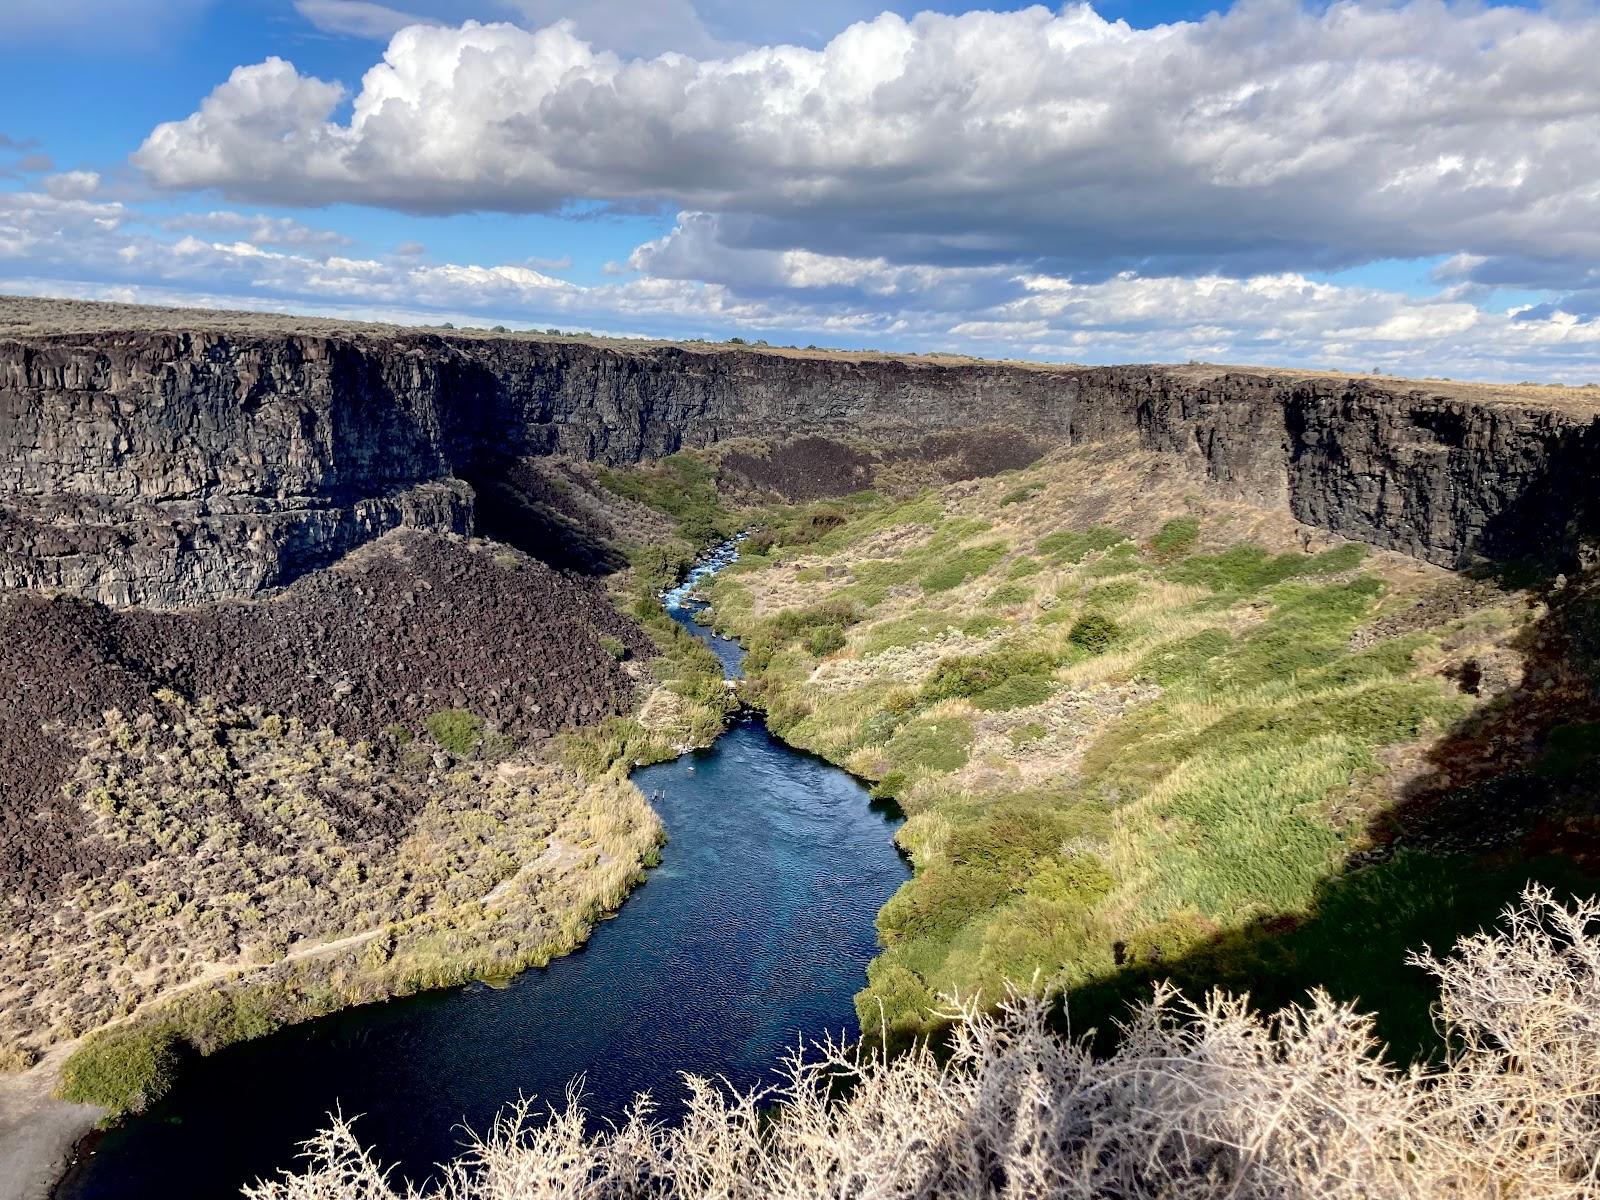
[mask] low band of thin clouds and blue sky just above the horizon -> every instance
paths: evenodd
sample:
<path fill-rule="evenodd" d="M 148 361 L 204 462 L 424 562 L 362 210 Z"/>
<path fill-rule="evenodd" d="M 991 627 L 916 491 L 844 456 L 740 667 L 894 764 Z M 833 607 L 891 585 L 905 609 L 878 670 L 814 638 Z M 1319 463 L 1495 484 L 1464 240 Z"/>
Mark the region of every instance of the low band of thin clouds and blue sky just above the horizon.
<path fill-rule="evenodd" d="M 518 322 L 696 336 L 968 350 L 1080 362 L 1376 366 L 1458 378 L 1600 378 L 1600 322 L 1517 320 L 1450 299 L 1336 286 L 1296 272 L 1074 282 L 1010 267 L 907 267 L 810 251 L 742 251 L 734 283 L 656 272 L 715 234 L 686 214 L 635 251 L 635 275 L 584 286 L 566 264 L 432 262 L 421 248 L 355 256 L 282 218 L 205 213 L 154 221 L 72 187 L 0 194 L 0 291 L 325 312 L 378 320 Z M 698 229 L 701 227 L 701 229 Z M 93 264 L 93 270 L 85 270 Z M 1448 363 L 1448 371 L 1440 371 Z"/>

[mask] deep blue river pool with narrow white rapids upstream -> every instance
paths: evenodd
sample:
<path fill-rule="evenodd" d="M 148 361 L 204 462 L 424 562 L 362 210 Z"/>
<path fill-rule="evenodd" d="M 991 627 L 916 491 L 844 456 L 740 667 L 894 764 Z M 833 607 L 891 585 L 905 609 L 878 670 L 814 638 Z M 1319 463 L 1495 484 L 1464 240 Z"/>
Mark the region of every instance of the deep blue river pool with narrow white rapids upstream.
<path fill-rule="evenodd" d="M 738 675 L 738 643 L 669 613 Z M 347 1010 L 187 1066 L 155 1109 L 102 1138 L 61 1200 L 216 1200 L 293 1165 L 330 1112 L 413 1181 L 522 1094 L 616 1118 L 648 1090 L 672 1115 L 682 1072 L 770 1078 L 797 1040 L 856 1034 L 877 910 L 907 877 L 896 816 L 851 776 L 746 718 L 707 750 L 640 768 L 667 827 L 662 862 L 589 944 L 502 987 Z"/>

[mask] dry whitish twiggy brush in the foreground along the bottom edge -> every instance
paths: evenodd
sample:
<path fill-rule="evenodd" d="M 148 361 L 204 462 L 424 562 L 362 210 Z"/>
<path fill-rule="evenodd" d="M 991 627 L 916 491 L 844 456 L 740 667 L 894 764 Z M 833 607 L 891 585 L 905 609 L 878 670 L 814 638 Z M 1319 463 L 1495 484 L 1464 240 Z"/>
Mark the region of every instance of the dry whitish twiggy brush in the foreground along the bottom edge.
<path fill-rule="evenodd" d="M 1386 1066 L 1370 1018 L 1320 994 L 1262 1018 L 1240 998 L 1162 990 L 1109 1058 L 1014 997 L 995 1014 L 963 1006 L 942 1061 L 830 1045 L 765 1094 L 691 1078 L 677 1126 L 648 1099 L 598 1136 L 576 1096 L 542 1120 L 523 1106 L 430 1195 L 1600 1197 L 1600 906 L 1530 890 L 1499 933 L 1414 962 L 1438 978 L 1451 1038 L 1430 1070 Z M 304 1174 L 246 1194 L 416 1195 L 344 1123 L 307 1149 Z"/>

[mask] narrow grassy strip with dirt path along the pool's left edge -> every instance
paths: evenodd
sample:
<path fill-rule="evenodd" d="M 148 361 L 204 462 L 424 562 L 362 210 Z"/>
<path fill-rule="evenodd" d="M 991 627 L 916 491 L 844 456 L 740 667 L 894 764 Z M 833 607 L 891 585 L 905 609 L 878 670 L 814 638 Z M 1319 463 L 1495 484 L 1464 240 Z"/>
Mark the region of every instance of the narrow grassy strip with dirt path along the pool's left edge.
<path fill-rule="evenodd" d="M 501 776 L 528 770 L 509 762 L 496 768 Z M 637 789 L 618 781 L 587 787 L 590 803 L 574 803 L 536 858 L 467 902 L 482 910 L 478 926 L 464 923 L 459 910 L 451 920 L 435 912 L 298 946 L 258 971 L 230 976 L 216 968 L 171 997 L 154 997 L 146 1011 L 126 1021 L 54 1046 L 27 1072 L 0 1075 L 0 1162 L 8 1168 L 16 1163 L 0 1174 L 0 1200 L 50 1195 L 74 1147 L 99 1122 L 118 1117 L 122 1104 L 157 1104 L 186 1069 L 178 1046 L 213 1054 L 331 1011 L 510 976 L 579 949 L 621 906 L 642 869 L 656 861 L 662 838 Z M 598 798 L 594 789 L 605 789 L 610 798 Z M 616 805 L 629 798 L 638 813 L 626 821 L 630 832 L 619 843 Z M 496 810 L 493 792 L 485 810 Z M 318 1010 L 322 1003 L 326 1006 Z M 256 1024 L 245 1026 L 246 1018 Z M 74 1086 L 74 1072 L 91 1078 L 112 1104 L 58 1098 L 64 1080 Z"/>

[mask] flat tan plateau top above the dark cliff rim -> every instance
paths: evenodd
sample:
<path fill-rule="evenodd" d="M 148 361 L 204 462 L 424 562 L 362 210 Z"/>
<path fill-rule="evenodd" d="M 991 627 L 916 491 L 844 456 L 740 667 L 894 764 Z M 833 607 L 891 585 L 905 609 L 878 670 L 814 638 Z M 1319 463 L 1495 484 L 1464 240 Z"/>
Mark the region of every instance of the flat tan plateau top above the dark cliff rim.
<path fill-rule="evenodd" d="M 275 312 L 243 312 L 227 309 L 166 309 L 147 304 L 106 304 L 99 301 L 43 299 L 32 296 L 0 296 L 0 339 L 46 338 L 61 334 L 115 333 L 232 333 L 232 334 L 312 334 L 323 338 L 403 338 L 435 334 L 451 341 L 533 341 L 603 346 L 616 350 L 648 350 L 678 347 L 694 354 L 770 354 L 784 358 L 818 358 L 830 362 L 904 362 L 934 366 L 1006 366 L 1029 371 L 1082 371 L 1075 363 L 1037 363 L 1019 358 L 976 358 L 962 354 L 893 354 L 888 350 L 802 350 L 790 346 L 750 346 L 744 342 L 686 342 L 650 338 L 598 338 L 582 333 L 547 334 L 539 331 L 496 333 L 486 328 L 445 328 L 418 325 L 386 325 L 339 317 L 294 317 Z M 1142 365 L 1141 365 L 1142 366 Z M 1285 366 L 1224 366 L 1219 363 L 1149 365 L 1176 379 L 1216 381 L 1240 373 L 1278 379 L 1338 379 L 1365 382 L 1382 392 L 1422 392 L 1446 400 L 1469 403 L 1550 408 L 1576 416 L 1600 416 L 1600 386 L 1562 387 L 1558 384 L 1494 384 L 1461 379 L 1403 379 L 1386 374 L 1352 374 L 1347 371 L 1307 371 Z"/>

